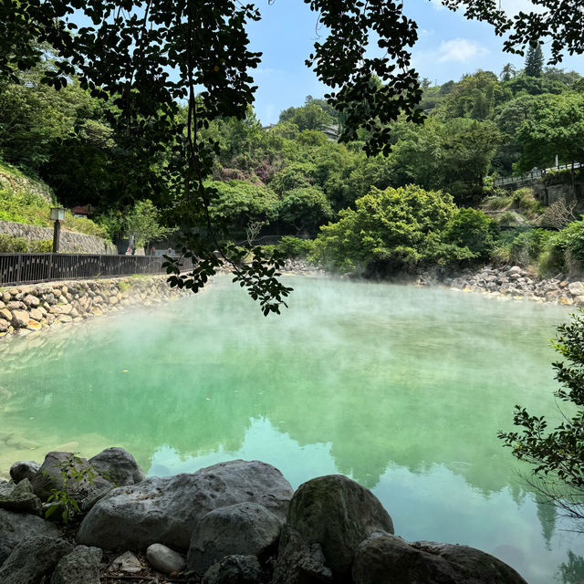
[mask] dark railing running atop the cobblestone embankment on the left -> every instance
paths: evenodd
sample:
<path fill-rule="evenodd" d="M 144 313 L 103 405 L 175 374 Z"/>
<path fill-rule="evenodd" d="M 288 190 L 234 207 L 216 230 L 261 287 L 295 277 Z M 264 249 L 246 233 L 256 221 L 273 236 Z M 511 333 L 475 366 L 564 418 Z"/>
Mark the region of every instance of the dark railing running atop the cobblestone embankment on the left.
<path fill-rule="evenodd" d="M 163 257 L 152 255 L 0 254 L 0 286 L 49 280 L 166 274 Z M 183 270 L 193 267 L 183 259 Z"/>

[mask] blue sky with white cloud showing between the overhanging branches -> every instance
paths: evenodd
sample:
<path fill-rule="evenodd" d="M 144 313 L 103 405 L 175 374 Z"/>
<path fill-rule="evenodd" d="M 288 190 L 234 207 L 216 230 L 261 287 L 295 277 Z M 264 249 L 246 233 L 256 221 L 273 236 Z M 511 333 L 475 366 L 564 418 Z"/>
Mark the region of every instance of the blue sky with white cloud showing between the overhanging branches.
<path fill-rule="evenodd" d="M 523 67 L 523 57 L 503 53 L 503 39 L 491 26 L 468 21 L 438 0 L 404 0 L 403 4 L 405 14 L 419 26 L 412 65 L 433 83 L 458 80 L 479 68 L 498 74 L 508 62 Z M 254 108 L 262 123 L 275 123 L 280 111 L 302 105 L 308 95 L 319 98 L 328 91 L 304 64 L 316 39 L 317 16 L 302 0 L 275 0 L 273 5 L 258 0 L 256 5 L 263 17 L 249 26 L 250 48 L 264 55 L 252 71 L 258 86 Z M 501 5 L 509 14 L 530 8 L 528 0 L 501 0 Z M 584 56 L 566 57 L 559 67 L 584 75 Z"/>

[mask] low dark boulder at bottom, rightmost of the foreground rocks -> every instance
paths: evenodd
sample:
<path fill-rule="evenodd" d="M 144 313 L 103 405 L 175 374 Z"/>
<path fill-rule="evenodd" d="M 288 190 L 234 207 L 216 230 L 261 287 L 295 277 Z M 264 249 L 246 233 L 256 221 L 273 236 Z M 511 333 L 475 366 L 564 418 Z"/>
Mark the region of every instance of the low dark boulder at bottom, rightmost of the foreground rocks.
<path fill-rule="evenodd" d="M 355 552 L 355 584 L 527 584 L 499 559 L 474 547 L 372 534 Z"/>

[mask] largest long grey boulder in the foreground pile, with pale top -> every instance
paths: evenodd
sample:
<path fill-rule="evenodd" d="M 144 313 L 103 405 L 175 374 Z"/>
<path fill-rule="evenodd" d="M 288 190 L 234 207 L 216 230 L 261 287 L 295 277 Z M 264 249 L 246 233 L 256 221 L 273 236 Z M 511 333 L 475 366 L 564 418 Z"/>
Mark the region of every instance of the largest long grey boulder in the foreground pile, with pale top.
<path fill-rule="evenodd" d="M 153 543 L 188 549 L 198 521 L 218 507 L 259 503 L 281 520 L 292 487 L 274 466 L 242 460 L 193 474 L 151 477 L 114 489 L 83 519 L 78 542 L 104 549 L 142 549 Z"/>

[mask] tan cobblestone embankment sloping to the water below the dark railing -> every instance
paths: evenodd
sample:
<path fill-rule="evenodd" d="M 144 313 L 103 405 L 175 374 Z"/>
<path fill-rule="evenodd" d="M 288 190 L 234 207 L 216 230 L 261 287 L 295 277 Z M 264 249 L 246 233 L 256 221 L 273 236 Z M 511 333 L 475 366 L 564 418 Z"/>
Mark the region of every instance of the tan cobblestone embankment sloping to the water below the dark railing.
<path fill-rule="evenodd" d="M 0 338 L 60 327 L 186 293 L 170 287 L 166 277 L 117 277 L 0 287 Z"/>

